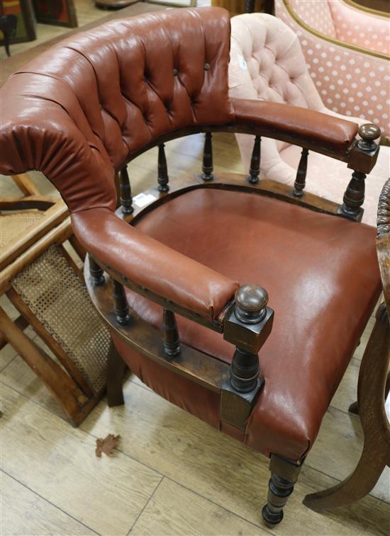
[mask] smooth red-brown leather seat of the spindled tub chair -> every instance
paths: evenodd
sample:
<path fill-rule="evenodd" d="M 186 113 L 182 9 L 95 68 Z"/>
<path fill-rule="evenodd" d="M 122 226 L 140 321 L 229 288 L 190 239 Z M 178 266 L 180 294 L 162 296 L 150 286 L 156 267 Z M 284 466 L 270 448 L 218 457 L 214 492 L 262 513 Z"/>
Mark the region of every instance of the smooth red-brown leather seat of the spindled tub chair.
<path fill-rule="evenodd" d="M 269 292 L 274 326 L 260 350 L 265 386 L 243 433 L 265 455 L 299 459 L 321 420 L 379 297 L 375 229 L 243 191 L 197 189 L 148 213 L 138 229 L 240 283 Z M 191 274 L 189 274 L 191 277 Z M 155 326 L 160 307 L 128 292 Z M 182 341 L 230 362 L 221 334 L 178 317 Z M 153 363 L 115 338 L 155 392 L 216 428 L 218 395 Z"/>

